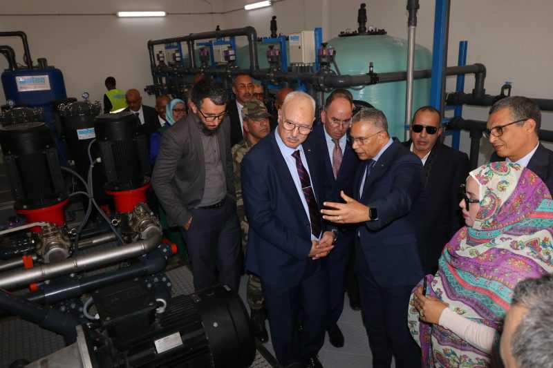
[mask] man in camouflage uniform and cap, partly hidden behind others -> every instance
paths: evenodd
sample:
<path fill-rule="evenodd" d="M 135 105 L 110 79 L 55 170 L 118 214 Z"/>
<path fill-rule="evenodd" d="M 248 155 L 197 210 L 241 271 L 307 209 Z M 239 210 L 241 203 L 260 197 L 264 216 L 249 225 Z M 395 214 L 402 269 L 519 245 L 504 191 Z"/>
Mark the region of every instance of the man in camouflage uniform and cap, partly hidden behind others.
<path fill-rule="evenodd" d="M 242 229 L 242 249 L 245 253 L 247 244 L 247 218 L 244 212 L 244 203 L 242 200 L 242 186 L 240 181 L 240 164 L 247 151 L 257 142 L 263 139 L 270 132 L 269 117 L 267 108 L 263 102 L 252 99 L 245 102 L 242 109 L 244 119 L 244 129 L 247 133 L 242 142 L 232 147 L 232 158 L 234 159 L 234 186 L 236 188 L 236 208 L 238 210 L 238 219 Z M 269 337 L 265 328 L 265 309 L 263 308 L 263 292 L 261 290 L 261 280 L 256 275 L 250 273 L 247 280 L 247 304 L 250 305 L 252 315 L 250 322 L 254 335 L 261 342 L 266 342 Z"/>

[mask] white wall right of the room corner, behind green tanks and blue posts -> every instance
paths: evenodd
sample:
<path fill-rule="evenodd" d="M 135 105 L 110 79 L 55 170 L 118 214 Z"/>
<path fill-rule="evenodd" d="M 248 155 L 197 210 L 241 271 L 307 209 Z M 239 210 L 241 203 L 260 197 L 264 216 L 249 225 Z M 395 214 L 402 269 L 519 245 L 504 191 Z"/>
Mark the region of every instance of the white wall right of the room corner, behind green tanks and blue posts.
<path fill-rule="evenodd" d="M 367 3 L 368 23 L 385 28 L 389 35 L 407 37 L 404 0 L 285 0 L 270 9 L 233 12 L 225 16 L 227 26 L 252 24 L 260 35 L 269 34 L 268 20 L 277 15 L 279 32 L 322 26 L 324 39 L 337 37 L 341 30 L 357 28 L 357 9 Z M 225 8 L 236 8 L 240 0 L 225 0 Z M 432 49 L 435 0 L 420 0 L 417 43 Z M 307 9 L 307 10 L 305 10 Z M 513 94 L 553 99 L 553 26 L 550 0 L 453 0 L 451 1 L 448 64 L 457 64 L 458 43 L 469 41 L 467 63 L 487 67 L 486 90 L 496 95 L 505 81 L 512 81 Z M 465 92 L 471 92 L 474 77 L 465 79 Z M 450 77 L 448 90 L 455 87 Z M 404 104 L 404 101 L 398 101 Z M 464 108 L 467 119 L 487 119 L 488 108 Z M 543 113 L 543 127 L 553 129 L 553 113 Z M 480 162 L 489 157 L 491 147 L 482 141 Z M 462 149 L 469 150 L 468 133 L 462 135 Z"/>

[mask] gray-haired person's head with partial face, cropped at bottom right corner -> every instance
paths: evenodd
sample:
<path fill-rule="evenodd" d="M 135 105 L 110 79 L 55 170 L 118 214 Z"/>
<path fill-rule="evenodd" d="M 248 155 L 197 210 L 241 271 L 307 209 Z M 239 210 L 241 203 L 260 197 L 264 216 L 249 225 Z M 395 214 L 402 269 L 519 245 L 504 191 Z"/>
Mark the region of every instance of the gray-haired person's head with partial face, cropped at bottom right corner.
<path fill-rule="evenodd" d="M 552 307 L 553 275 L 518 282 L 501 334 L 505 368 L 553 367 Z"/>

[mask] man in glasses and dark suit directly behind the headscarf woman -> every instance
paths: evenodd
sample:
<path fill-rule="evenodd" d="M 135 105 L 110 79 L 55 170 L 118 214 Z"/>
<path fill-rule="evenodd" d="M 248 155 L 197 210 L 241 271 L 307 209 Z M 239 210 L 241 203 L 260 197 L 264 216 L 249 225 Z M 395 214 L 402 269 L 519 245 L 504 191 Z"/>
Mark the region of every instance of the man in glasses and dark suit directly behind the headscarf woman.
<path fill-rule="evenodd" d="M 484 132 L 496 152 L 491 162 L 509 161 L 534 171 L 553 193 L 553 151 L 540 144 L 541 111 L 527 97 L 500 99 L 489 110 Z"/>

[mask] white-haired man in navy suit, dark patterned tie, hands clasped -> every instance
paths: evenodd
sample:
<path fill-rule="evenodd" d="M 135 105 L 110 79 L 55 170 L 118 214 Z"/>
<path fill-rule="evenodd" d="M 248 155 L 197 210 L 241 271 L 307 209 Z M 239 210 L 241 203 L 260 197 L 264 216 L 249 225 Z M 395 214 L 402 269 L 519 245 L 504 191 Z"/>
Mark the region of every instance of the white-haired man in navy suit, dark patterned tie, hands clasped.
<path fill-rule="evenodd" d="M 279 126 L 242 161 L 248 233 L 246 268 L 259 275 L 272 345 L 283 366 L 322 367 L 328 313 L 328 255 L 335 234 L 324 231 L 322 160 L 306 141 L 315 100 L 290 93 Z M 301 326 L 301 331 L 300 327 Z"/>

